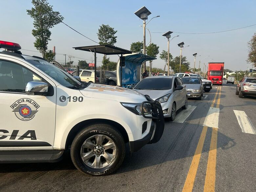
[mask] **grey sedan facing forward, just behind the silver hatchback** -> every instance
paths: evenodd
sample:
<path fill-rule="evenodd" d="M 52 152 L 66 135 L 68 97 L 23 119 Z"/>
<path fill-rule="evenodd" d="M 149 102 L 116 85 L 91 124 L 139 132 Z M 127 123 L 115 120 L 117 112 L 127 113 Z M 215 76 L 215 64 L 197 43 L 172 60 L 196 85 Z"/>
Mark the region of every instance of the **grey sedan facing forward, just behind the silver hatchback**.
<path fill-rule="evenodd" d="M 203 82 L 198 76 L 183 77 L 182 81 L 186 85 L 188 98 L 202 99 Z"/>

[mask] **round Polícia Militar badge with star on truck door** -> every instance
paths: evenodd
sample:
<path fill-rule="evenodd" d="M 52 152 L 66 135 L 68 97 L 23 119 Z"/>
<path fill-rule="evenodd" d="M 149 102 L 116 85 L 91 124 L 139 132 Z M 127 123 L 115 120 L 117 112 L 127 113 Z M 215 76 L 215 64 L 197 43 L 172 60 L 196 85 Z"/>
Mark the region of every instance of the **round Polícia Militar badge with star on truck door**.
<path fill-rule="evenodd" d="M 32 119 L 40 107 L 35 101 L 29 98 L 23 98 L 15 101 L 10 106 L 20 120 L 28 121 Z"/>

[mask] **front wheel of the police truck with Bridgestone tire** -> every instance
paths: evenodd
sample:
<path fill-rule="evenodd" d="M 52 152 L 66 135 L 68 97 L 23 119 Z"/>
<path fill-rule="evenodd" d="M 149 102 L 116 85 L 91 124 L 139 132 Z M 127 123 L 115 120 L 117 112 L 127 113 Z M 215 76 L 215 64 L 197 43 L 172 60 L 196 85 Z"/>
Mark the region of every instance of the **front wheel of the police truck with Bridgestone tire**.
<path fill-rule="evenodd" d="M 88 175 L 113 173 L 122 164 L 124 156 L 123 137 L 107 124 L 85 127 L 71 145 L 71 159 L 75 167 Z"/>

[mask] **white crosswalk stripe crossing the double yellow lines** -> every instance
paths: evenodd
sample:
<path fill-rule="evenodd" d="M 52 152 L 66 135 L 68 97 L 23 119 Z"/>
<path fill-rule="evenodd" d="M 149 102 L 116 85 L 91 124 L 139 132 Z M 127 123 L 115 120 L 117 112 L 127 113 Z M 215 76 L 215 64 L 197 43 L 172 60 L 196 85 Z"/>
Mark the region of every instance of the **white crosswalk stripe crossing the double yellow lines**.
<path fill-rule="evenodd" d="M 219 126 L 219 113 L 220 109 L 210 107 L 207 116 L 204 120 L 203 126 L 218 128 Z"/>

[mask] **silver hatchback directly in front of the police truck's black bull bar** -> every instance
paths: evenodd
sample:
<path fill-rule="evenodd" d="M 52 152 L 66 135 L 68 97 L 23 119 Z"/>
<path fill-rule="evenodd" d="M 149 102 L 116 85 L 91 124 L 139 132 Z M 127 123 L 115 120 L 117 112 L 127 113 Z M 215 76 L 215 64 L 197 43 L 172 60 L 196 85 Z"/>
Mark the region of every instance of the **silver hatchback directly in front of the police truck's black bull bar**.
<path fill-rule="evenodd" d="M 152 76 L 142 79 L 134 88 L 143 95 L 159 101 L 163 116 L 173 121 L 176 111 L 187 108 L 186 86 L 176 76 Z"/>

